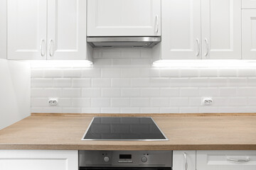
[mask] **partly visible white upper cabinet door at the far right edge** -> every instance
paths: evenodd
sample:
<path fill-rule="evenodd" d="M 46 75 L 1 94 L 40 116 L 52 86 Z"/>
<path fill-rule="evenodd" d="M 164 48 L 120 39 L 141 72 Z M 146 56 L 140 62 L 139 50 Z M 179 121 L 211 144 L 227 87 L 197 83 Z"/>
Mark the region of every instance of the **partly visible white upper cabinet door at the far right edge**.
<path fill-rule="evenodd" d="M 242 59 L 256 59 L 256 9 L 242 10 Z"/>

